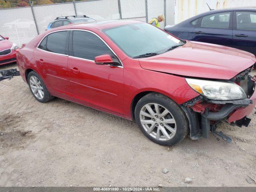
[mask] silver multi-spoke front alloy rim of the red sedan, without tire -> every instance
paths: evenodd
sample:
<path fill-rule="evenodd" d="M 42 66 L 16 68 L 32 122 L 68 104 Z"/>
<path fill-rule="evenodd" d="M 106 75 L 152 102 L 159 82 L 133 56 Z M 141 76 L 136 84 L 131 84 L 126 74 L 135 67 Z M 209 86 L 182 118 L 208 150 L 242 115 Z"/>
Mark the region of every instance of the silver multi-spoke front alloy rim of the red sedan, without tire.
<path fill-rule="evenodd" d="M 171 140 L 176 134 L 176 121 L 171 112 L 157 103 L 148 103 L 140 110 L 144 130 L 160 141 Z"/>

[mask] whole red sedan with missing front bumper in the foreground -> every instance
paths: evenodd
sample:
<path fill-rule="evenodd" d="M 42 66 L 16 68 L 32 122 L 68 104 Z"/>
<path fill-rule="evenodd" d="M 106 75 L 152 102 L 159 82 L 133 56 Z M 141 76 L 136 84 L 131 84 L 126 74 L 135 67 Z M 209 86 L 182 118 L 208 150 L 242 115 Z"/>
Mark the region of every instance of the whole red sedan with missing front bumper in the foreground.
<path fill-rule="evenodd" d="M 134 120 L 161 145 L 208 138 L 220 122 L 248 126 L 256 105 L 253 54 L 180 40 L 139 21 L 63 26 L 17 54 L 39 102 L 54 97 Z"/>

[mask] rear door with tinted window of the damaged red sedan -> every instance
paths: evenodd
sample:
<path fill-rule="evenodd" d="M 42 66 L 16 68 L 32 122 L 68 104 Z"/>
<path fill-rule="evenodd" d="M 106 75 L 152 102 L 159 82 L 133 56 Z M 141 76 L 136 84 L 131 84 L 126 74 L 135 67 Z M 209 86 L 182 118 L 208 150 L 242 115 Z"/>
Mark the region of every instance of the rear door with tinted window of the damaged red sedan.
<path fill-rule="evenodd" d="M 34 50 L 36 66 L 50 92 L 73 98 L 68 77 L 69 30 L 48 34 Z"/>

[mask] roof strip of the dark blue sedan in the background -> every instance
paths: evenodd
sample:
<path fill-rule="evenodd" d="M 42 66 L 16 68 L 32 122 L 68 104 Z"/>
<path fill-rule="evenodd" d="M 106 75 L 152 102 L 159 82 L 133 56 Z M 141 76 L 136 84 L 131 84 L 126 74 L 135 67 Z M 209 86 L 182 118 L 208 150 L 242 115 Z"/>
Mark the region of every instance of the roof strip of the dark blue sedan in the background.
<path fill-rule="evenodd" d="M 256 11 L 256 6 L 250 6 L 250 7 L 234 7 L 234 8 L 225 8 L 225 9 L 216 9 L 216 10 L 211 10 L 211 11 L 207 11 L 201 14 L 198 14 L 196 16 L 193 16 L 191 18 L 188 18 L 187 20 L 184 20 L 182 22 L 180 22 L 179 24 L 182 23 L 187 23 L 187 22 L 191 22 L 197 18 L 200 18 L 202 16 L 205 15 L 209 15 L 209 14 L 214 14 L 214 13 L 218 13 L 218 12 L 228 12 L 228 11 Z M 177 24 L 178 25 L 178 24 Z"/>

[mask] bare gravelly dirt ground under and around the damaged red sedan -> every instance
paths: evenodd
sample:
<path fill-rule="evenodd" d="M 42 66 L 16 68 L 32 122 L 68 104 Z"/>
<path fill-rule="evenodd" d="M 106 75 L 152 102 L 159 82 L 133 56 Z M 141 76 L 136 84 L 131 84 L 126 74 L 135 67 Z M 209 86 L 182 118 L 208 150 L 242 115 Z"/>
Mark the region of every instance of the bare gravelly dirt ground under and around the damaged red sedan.
<path fill-rule="evenodd" d="M 37 102 L 17 76 L 0 82 L 0 186 L 255 186 L 246 180 L 256 177 L 250 118 L 248 128 L 218 128 L 231 144 L 211 134 L 163 147 L 128 120 L 62 99 Z"/>

